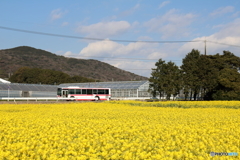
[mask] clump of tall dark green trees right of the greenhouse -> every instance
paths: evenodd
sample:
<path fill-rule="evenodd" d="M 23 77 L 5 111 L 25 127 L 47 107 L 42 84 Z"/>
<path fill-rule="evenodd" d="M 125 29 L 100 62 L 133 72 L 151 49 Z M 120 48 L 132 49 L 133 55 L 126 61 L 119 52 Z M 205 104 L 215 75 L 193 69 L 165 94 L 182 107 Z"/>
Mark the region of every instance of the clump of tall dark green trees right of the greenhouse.
<path fill-rule="evenodd" d="M 159 59 L 149 78 L 149 91 L 170 99 L 183 93 L 184 100 L 240 100 L 240 58 L 229 51 L 201 55 L 193 49 L 178 67 Z"/>

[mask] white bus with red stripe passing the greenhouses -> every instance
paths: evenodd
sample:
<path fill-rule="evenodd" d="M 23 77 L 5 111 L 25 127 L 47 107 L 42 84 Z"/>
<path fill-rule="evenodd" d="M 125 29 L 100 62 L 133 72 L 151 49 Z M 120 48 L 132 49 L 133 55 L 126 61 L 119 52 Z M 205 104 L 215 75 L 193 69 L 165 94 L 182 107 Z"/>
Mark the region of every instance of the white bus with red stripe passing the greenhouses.
<path fill-rule="evenodd" d="M 75 99 L 78 101 L 85 100 L 110 100 L 110 88 L 80 88 L 76 86 L 61 87 L 57 90 L 57 96 L 61 98 Z"/>

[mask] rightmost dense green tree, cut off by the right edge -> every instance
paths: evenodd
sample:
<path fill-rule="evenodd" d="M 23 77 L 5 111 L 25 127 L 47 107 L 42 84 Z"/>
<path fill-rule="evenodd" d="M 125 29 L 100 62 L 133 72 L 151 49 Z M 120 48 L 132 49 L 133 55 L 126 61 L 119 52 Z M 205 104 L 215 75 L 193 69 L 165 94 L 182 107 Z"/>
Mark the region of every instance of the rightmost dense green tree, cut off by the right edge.
<path fill-rule="evenodd" d="M 239 100 L 240 98 L 240 58 L 229 51 L 223 55 L 209 56 L 217 70 L 216 85 L 207 92 L 209 100 Z"/>

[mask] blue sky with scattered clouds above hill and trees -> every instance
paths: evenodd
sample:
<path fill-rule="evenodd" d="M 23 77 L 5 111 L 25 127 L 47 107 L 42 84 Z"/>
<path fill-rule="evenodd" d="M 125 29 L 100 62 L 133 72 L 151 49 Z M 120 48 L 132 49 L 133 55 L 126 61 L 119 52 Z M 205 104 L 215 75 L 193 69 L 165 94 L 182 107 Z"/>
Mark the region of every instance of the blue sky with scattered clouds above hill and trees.
<path fill-rule="evenodd" d="M 147 77 L 159 58 L 180 66 L 193 48 L 204 54 L 204 40 L 207 54 L 229 50 L 240 56 L 239 0 L 15 0 L 0 1 L 0 7 L 0 49 L 30 46 L 66 57 L 100 60 Z"/>

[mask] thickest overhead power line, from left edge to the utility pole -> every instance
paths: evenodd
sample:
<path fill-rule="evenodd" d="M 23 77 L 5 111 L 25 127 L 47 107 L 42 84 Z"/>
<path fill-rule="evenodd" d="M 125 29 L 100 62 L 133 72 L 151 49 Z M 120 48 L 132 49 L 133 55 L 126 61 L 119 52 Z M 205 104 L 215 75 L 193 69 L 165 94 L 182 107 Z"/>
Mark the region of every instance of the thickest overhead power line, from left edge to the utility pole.
<path fill-rule="evenodd" d="M 202 40 L 196 40 L 196 41 L 134 41 L 134 40 L 119 40 L 119 39 L 102 39 L 102 38 L 79 37 L 79 36 L 69 36 L 69 35 L 62 35 L 62 34 L 53 34 L 53 33 L 37 32 L 37 31 L 23 30 L 23 29 L 10 28 L 10 27 L 4 27 L 4 26 L 0 26 L 0 29 L 17 31 L 17 32 L 24 32 L 24 33 L 39 34 L 39 35 L 54 36 L 54 37 L 63 37 L 63 38 L 92 40 L 92 41 L 140 42 L 140 43 L 186 43 L 186 42 L 202 42 Z"/>

